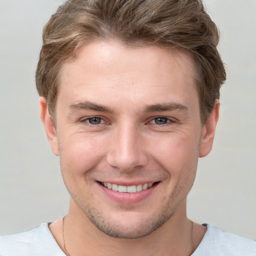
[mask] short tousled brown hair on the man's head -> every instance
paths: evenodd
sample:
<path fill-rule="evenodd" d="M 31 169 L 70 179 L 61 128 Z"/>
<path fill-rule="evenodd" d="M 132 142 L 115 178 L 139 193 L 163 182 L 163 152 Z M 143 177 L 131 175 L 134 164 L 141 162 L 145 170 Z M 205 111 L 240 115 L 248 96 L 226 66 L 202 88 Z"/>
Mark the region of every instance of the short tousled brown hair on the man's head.
<path fill-rule="evenodd" d="M 196 66 L 201 121 L 219 98 L 225 69 L 216 49 L 219 32 L 201 0 L 68 0 L 43 28 L 36 88 L 54 118 L 63 62 L 98 39 L 129 47 L 158 44 L 191 52 Z"/>

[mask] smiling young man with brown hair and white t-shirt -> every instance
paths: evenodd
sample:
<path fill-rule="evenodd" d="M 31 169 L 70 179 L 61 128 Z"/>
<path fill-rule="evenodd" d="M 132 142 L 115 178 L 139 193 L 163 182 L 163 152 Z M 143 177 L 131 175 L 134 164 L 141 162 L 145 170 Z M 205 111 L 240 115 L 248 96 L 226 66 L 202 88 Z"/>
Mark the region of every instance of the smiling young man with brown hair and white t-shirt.
<path fill-rule="evenodd" d="M 70 0 L 43 31 L 41 119 L 71 195 L 60 220 L 0 255 L 256 255 L 186 217 L 225 80 L 199 0 Z"/>

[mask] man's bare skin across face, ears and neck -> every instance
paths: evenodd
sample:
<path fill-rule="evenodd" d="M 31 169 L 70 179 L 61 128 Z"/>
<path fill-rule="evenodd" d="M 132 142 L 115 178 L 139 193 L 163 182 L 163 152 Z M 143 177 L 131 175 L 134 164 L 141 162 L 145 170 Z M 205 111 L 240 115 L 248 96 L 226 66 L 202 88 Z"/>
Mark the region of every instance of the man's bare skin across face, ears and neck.
<path fill-rule="evenodd" d="M 186 196 L 198 157 L 211 150 L 219 103 L 202 124 L 193 65 L 179 49 L 92 42 L 63 64 L 55 127 L 40 98 L 71 195 L 70 255 L 190 255 L 198 246 L 205 227 L 186 217 Z M 129 203 L 127 193 L 116 201 L 98 181 L 156 184 Z M 62 224 L 49 227 L 66 252 Z"/>

